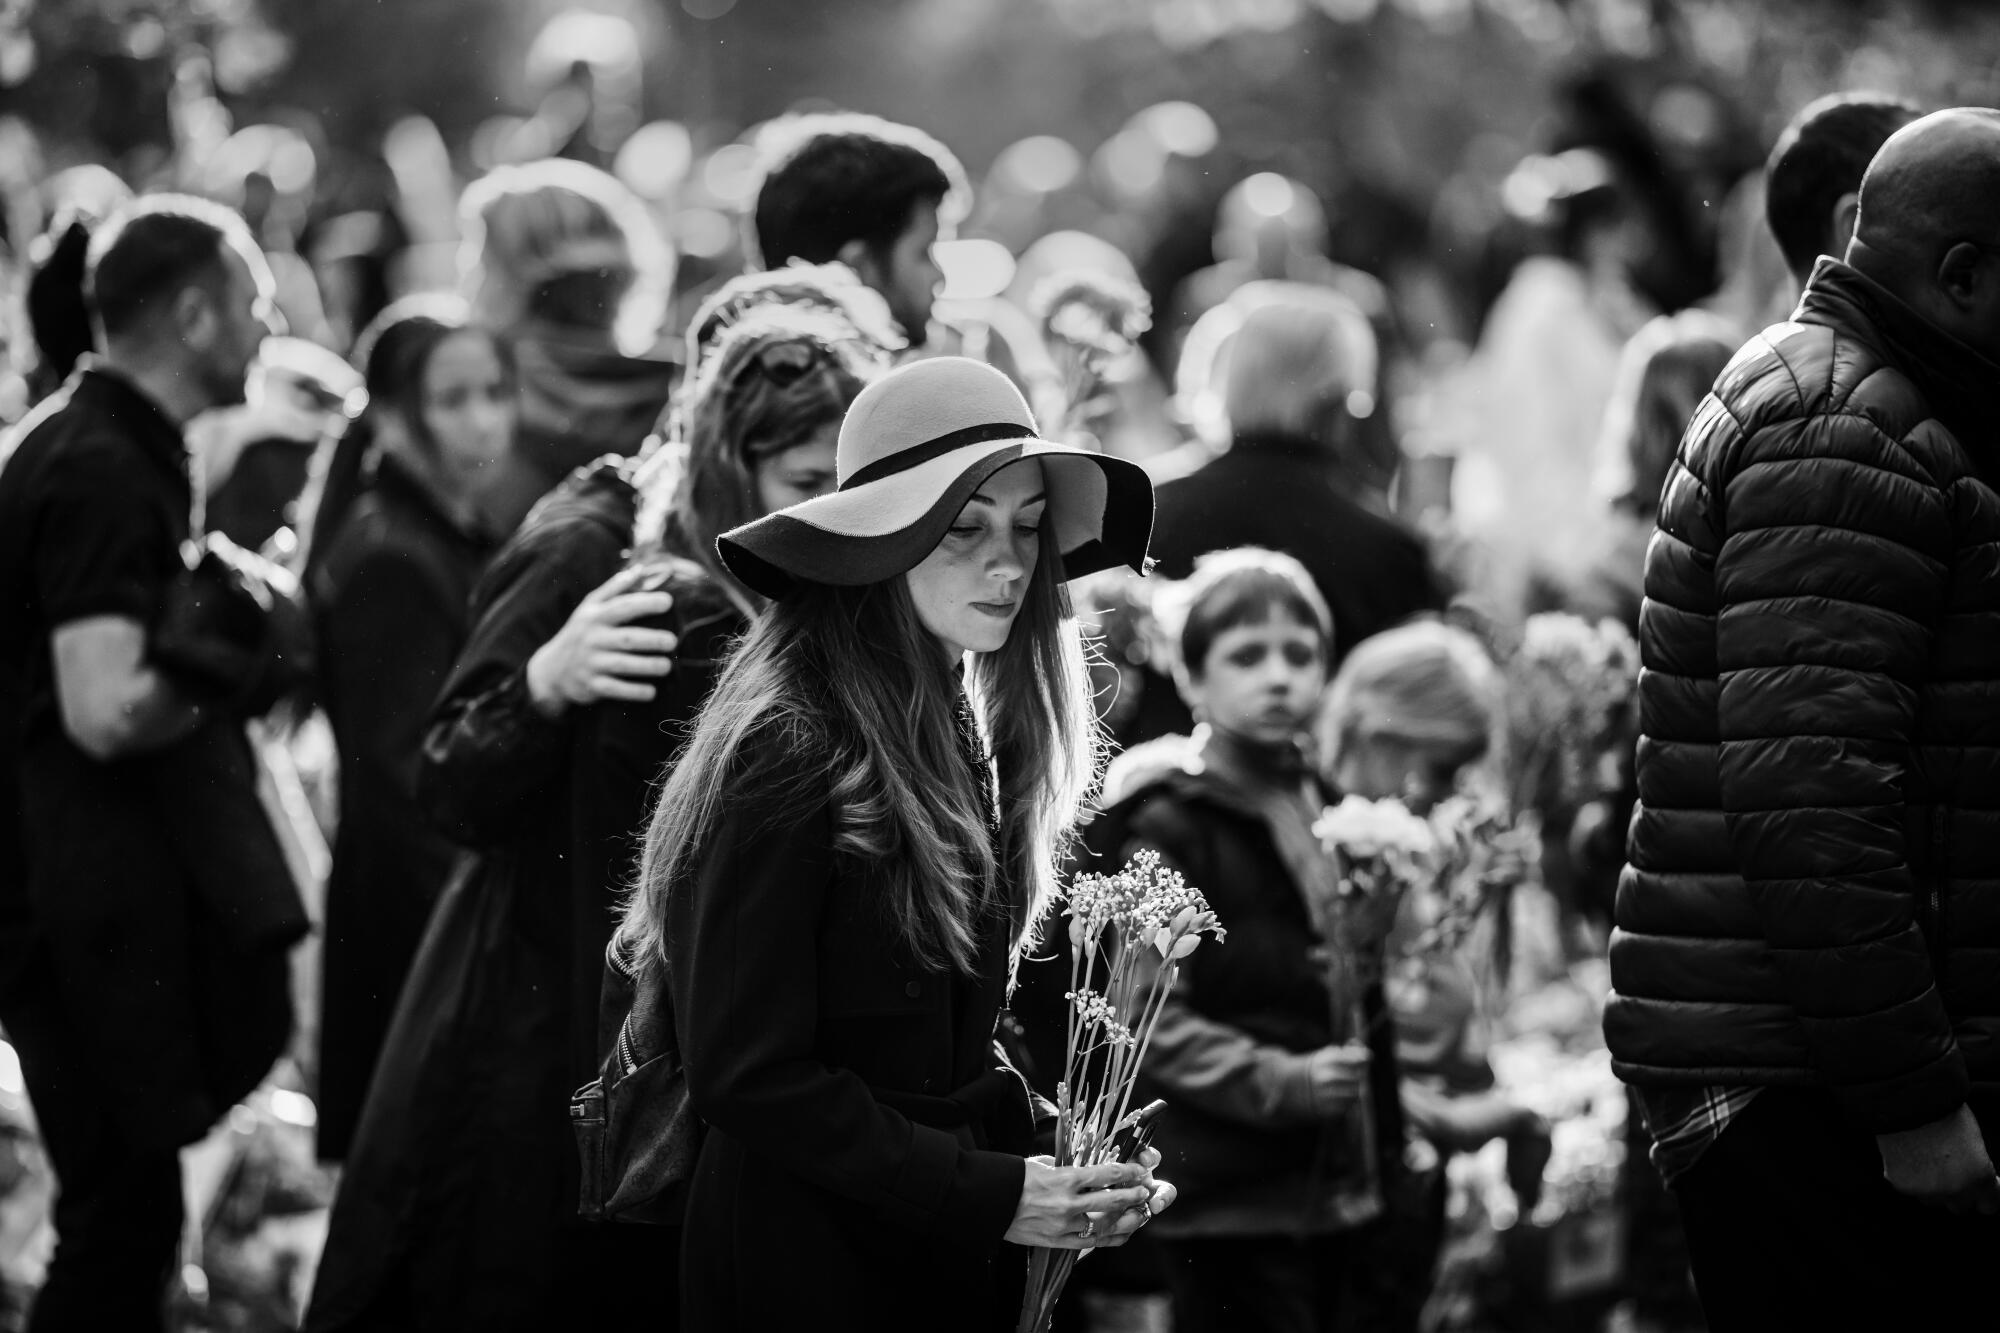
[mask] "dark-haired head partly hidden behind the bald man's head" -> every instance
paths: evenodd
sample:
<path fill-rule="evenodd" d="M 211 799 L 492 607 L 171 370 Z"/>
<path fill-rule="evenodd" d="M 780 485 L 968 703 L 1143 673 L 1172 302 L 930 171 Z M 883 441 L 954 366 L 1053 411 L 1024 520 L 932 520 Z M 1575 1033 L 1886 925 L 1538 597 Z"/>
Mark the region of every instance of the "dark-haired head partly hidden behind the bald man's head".
<path fill-rule="evenodd" d="M 1784 264 L 1806 284 L 1822 254 L 1846 254 L 1862 172 L 1924 110 L 1880 92 L 1830 92 L 1784 126 L 1764 164 L 1764 216 Z"/>

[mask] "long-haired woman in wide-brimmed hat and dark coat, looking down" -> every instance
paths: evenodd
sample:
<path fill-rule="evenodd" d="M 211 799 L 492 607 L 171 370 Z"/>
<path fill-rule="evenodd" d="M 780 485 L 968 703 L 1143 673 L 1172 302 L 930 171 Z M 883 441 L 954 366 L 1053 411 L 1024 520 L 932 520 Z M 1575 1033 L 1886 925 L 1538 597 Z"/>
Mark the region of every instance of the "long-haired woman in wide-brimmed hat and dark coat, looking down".
<path fill-rule="evenodd" d="M 708 1125 L 684 1327 L 1010 1329 L 1020 1245 L 1118 1245 L 1172 1203 L 1140 1165 L 1030 1159 L 992 1043 L 1096 765 L 1062 584 L 1144 566 L 1152 492 L 962 358 L 862 390 L 838 474 L 718 540 L 772 600 L 618 937 L 666 969 Z"/>

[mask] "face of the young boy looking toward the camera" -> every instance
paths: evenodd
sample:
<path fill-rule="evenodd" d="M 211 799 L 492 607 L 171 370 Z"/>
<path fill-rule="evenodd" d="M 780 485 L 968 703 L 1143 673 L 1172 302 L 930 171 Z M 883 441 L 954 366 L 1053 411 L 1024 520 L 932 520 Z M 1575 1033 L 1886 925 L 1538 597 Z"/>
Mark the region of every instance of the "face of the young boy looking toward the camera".
<path fill-rule="evenodd" d="M 1274 610 L 1258 624 L 1234 624 L 1208 644 L 1200 675 L 1182 693 L 1196 717 L 1256 745 L 1296 741 L 1326 687 L 1320 630 Z"/>

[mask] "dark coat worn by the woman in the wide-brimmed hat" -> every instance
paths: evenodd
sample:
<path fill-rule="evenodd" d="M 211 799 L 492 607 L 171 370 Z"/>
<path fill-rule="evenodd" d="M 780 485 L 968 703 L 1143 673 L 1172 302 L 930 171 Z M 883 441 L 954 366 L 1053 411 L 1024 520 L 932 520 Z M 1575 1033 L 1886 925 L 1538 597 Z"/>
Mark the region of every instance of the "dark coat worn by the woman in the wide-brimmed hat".
<path fill-rule="evenodd" d="M 690 1333 L 1012 1329 L 1002 1241 L 1034 1151 L 1000 1059 L 1004 921 L 976 975 L 912 961 L 872 867 L 834 851 L 814 757 L 752 743 L 668 911 L 688 1091 Z"/>

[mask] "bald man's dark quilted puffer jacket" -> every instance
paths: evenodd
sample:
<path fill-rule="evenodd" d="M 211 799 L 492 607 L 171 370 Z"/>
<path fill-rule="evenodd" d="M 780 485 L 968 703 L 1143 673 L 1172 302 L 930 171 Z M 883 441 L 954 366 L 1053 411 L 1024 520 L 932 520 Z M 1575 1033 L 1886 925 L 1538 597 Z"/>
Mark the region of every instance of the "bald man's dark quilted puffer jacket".
<path fill-rule="evenodd" d="M 2000 366 L 1822 258 L 1660 496 L 1604 1017 L 1632 1083 L 2000 1091 Z"/>

